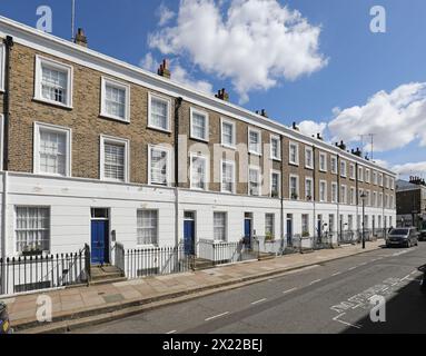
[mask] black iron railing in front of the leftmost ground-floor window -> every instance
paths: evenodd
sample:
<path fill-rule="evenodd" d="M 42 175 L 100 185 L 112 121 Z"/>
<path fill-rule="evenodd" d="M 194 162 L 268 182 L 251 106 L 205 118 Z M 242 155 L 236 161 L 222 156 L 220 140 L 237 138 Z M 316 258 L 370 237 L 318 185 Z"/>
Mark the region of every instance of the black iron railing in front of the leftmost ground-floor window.
<path fill-rule="evenodd" d="M 72 254 L 0 259 L 0 295 L 86 284 L 90 278 L 87 255 L 88 246 Z"/>

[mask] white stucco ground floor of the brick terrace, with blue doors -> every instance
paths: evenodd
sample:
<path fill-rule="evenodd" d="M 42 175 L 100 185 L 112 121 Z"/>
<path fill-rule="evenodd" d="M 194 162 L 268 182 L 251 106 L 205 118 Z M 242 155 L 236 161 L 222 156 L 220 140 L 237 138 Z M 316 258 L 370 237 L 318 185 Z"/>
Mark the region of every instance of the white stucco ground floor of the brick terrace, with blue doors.
<path fill-rule="evenodd" d="M 37 249 L 76 253 L 93 243 L 105 245 L 108 255 L 115 243 L 126 249 L 176 246 L 188 236 L 195 244 L 232 243 L 248 231 L 287 240 L 294 235 L 316 236 L 318 229 L 356 230 L 363 220 L 361 207 L 356 206 L 13 172 L 0 174 L 0 194 L 2 257 Z M 396 224 L 395 210 L 367 207 L 365 215 L 368 229 Z"/>

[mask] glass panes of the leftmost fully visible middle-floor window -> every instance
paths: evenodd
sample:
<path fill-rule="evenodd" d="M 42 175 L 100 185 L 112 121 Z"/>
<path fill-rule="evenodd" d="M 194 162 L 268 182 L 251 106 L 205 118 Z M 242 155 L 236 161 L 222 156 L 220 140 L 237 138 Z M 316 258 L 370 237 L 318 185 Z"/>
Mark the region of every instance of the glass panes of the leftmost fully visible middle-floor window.
<path fill-rule="evenodd" d="M 40 172 L 67 174 L 67 135 L 40 129 Z"/>

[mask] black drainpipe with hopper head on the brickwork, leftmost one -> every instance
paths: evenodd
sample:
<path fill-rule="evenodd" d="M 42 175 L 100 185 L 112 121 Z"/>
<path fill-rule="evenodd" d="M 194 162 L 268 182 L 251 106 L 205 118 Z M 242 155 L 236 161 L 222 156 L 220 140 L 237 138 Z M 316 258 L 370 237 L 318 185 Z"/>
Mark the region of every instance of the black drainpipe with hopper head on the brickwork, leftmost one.
<path fill-rule="evenodd" d="M 4 39 L 4 95 L 3 95 L 3 167 L 2 169 L 9 170 L 9 121 L 10 121 L 10 69 L 11 69 L 11 52 L 13 48 L 13 38 L 8 36 Z"/>

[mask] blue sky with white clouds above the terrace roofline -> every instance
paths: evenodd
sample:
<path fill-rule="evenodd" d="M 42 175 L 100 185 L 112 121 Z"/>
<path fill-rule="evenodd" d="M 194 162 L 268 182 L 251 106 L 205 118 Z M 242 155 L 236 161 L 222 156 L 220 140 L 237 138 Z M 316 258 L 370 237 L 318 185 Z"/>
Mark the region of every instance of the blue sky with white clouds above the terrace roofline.
<path fill-rule="evenodd" d="M 374 160 L 426 178 L 424 0 L 76 3 L 91 49 L 151 71 L 167 58 L 175 81 L 226 88 L 234 103 L 369 157 L 374 134 Z M 52 34 L 70 39 L 71 0 L 1 0 L 0 14 L 36 27 L 40 6 Z"/>

